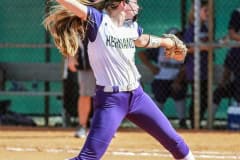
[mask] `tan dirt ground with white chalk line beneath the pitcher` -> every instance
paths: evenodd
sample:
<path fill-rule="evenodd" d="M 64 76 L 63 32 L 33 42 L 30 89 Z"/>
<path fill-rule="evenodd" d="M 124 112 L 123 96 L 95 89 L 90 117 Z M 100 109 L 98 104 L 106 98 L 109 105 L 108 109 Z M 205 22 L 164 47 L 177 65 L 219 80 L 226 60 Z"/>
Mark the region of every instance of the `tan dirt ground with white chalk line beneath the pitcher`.
<path fill-rule="evenodd" d="M 240 132 L 178 130 L 197 160 L 240 160 Z M 0 127 L 0 160 L 64 160 L 79 153 L 85 139 L 74 129 Z M 102 160 L 171 160 L 139 129 L 120 129 Z"/>

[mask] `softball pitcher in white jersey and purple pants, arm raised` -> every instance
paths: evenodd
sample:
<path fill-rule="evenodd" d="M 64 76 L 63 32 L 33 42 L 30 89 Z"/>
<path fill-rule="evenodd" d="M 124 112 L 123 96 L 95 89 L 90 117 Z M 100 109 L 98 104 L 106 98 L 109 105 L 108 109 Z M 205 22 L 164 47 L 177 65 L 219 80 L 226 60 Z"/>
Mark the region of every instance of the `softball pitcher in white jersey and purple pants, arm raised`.
<path fill-rule="evenodd" d="M 97 84 L 90 132 L 80 154 L 71 160 L 101 159 L 124 118 L 156 138 L 175 159 L 193 160 L 188 145 L 144 93 L 134 63 L 135 46 L 175 48 L 178 54 L 170 52 L 168 56 L 182 60 L 185 45 L 178 44 L 178 39 L 143 34 L 135 21 L 139 10 L 137 0 L 57 2 L 64 8 L 55 6 L 46 17 L 45 26 L 66 56 L 76 53 L 77 35 L 88 37 L 88 56 Z M 79 18 L 88 22 L 87 28 L 81 30 Z"/>

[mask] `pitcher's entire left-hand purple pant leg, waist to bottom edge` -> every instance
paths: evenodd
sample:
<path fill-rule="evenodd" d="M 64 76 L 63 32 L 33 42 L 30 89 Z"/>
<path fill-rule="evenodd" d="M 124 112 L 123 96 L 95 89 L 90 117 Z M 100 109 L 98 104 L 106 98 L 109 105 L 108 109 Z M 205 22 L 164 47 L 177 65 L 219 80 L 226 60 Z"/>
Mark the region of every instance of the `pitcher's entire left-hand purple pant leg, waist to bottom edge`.
<path fill-rule="evenodd" d="M 96 91 L 94 115 L 87 140 L 79 154 L 80 159 L 101 159 L 128 109 L 128 95 Z M 122 101 L 125 100 L 125 101 Z M 120 103 L 122 101 L 122 103 Z M 93 158 L 94 157 L 94 158 Z"/>

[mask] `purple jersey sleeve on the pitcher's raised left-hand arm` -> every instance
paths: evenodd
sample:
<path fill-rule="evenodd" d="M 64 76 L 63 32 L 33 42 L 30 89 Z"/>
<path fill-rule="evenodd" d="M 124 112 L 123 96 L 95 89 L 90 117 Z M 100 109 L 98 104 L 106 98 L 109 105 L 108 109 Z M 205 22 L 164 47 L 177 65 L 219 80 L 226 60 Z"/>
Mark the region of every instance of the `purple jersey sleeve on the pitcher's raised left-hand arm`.
<path fill-rule="evenodd" d="M 97 32 L 99 26 L 102 23 L 103 13 L 93 7 L 88 6 L 88 27 L 87 27 L 87 37 L 93 42 L 97 37 Z"/>

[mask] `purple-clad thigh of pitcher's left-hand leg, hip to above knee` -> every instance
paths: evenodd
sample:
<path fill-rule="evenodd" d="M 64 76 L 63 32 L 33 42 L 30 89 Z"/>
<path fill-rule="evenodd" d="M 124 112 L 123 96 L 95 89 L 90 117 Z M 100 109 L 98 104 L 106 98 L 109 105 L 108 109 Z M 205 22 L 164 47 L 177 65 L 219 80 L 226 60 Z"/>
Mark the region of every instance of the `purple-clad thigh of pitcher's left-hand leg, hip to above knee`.
<path fill-rule="evenodd" d="M 97 91 L 94 97 L 94 115 L 89 135 L 110 142 L 128 112 L 128 94 Z"/>

